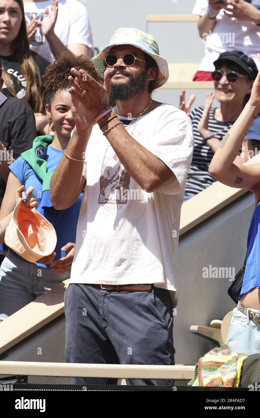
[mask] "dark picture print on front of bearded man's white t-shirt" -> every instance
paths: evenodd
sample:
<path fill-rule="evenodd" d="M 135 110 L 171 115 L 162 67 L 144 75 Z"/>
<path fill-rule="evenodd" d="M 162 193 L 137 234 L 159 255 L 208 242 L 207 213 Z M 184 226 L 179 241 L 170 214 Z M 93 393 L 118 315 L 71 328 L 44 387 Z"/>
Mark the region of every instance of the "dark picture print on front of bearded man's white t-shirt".
<path fill-rule="evenodd" d="M 99 184 L 100 193 L 98 203 L 127 203 L 130 175 L 111 145 L 106 147 Z"/>

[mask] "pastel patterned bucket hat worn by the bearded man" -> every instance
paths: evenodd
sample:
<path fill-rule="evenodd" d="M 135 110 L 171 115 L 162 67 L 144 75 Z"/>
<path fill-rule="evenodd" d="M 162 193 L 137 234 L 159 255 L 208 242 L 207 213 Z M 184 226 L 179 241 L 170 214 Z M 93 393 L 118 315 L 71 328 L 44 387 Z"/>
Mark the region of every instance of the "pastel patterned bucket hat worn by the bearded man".
<path fill-rule="evenodd" d="M 109 45 L 105 46 L 98 55 L 93 58 L 93 63 L 98 74 L 104 78 L 106 71 L 105 58 L 109 50 L 116 45 L 132 45 L 149 54 L 158 65 L 155 79 L 155 88 L 161 87 L 169 78 L 167 61 L 159 55 L 159 46 L 152 35 L 136 28 L 120 28 L 112 36 Z"/>

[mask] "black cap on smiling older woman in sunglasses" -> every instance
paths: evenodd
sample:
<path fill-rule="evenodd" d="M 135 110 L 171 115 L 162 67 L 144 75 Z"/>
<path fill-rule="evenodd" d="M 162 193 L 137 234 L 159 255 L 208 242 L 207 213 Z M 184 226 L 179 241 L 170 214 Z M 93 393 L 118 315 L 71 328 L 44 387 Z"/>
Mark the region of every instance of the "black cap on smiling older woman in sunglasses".
<path fill-rule="evenodd" d="M 257 76 L 258 70 L 255 64 L 255 61 L 252 58 L 249 58 L 246 54 L 243 54 L 241 51 L 228 51 L 222 52 L 218 59 L 213 62 L 216 66 L 221 63 L 221 61 L 232 61 L 235 64 L 239 65 L 253 80 Z"/>

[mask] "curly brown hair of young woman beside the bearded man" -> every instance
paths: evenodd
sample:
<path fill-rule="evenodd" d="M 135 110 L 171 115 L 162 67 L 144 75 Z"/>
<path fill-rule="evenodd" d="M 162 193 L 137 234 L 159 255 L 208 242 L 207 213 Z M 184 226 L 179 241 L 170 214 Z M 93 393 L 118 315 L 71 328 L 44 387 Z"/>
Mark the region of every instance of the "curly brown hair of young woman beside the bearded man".
<path fill-rule="evenodd" d="M 53 64 L 49 64 L 43 75 L 46 80 L 43 84 L 43 104 L 51 104 L 54 96 L 61 90 L 67 90 L 71 87 L 68 76 L 75 76 L 71 73 L 71 68 L 83 69 L 93 77 L 97 82 L 103 84 L 103 80 L 96 72 L 93 62 L 86 55 L 75 56 L 71 52 L 63 52 L 55 57 Z"/>

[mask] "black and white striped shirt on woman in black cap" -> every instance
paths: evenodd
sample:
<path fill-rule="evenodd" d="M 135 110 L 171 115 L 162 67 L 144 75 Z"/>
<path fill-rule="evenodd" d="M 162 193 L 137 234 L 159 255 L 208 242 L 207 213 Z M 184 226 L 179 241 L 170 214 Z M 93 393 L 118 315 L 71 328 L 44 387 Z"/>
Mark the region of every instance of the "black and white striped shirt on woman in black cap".
<path fill-rule="evenodd" d="M 212 133 L 215 133 L 216 138 L 222 140 L 234 122 L 219 122 L 216 120 L 214 117 L 216 109 L 216 107 L 210 109 L 208 129 Z M 204 107 L 199 106 L 190 113 L 194 133 L 194 152 L 188 171 L 185 196 L 193 196 L 216 181 L 208 171 L 214 152 L 208 145 L 205 145 L 202 136 L 197 130 L 197 125 L 202 118 L 203 110 Z"/>

